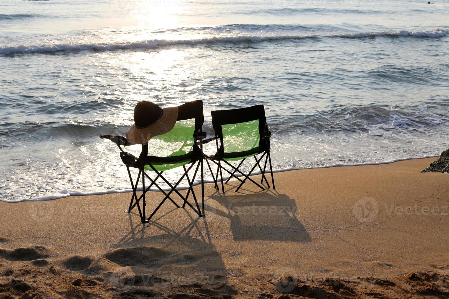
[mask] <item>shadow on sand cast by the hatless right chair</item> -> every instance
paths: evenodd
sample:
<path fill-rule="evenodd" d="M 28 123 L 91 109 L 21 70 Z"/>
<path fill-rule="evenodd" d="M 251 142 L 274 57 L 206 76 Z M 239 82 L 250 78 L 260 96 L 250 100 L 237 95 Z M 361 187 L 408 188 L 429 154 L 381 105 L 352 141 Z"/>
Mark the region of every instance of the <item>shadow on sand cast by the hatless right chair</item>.
<path fill-rule="evenodd" d="M 295 199 L 271 189 L 254 192 L 241 188 L 236 194 L 235 188 L 225 194 L 216 191 L 205 201 L 207 212 L 230 219 L 235 240 L 312 242 L 295 215 Z"/>

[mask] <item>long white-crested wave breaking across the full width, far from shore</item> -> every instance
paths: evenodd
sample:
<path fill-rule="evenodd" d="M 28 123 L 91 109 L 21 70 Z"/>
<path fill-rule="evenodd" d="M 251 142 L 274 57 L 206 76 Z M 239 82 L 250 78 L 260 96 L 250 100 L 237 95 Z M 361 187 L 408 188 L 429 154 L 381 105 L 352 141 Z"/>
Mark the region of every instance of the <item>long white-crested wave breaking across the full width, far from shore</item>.
<path fill-rule="evenodd" d="M 432 31 L 382 31 L 352 34 L 333 34 L 333 35 L 240 35 L 225 37 L 209 37 L 203 39 L 154 39 L 132 43 L 61 43 L 52 45 L 18 45 L 0 47 L 0 55 L 26 54 L 26 53 L 56 53 L 56 52 L 79 52 L 79 51 L 114 51 L 114 50 L 133 50 L 133 49 L 156 49 L 168 46 L 179 45 L 201 45 L 217 43 L 261 43 L 281 40 L 300 40 L 316 38 L 346 38 L 361 39 L 374 37 L 414 37 L 414 38 L 440 38 L 446 35 L 445 29 L 436 29 Z"/>

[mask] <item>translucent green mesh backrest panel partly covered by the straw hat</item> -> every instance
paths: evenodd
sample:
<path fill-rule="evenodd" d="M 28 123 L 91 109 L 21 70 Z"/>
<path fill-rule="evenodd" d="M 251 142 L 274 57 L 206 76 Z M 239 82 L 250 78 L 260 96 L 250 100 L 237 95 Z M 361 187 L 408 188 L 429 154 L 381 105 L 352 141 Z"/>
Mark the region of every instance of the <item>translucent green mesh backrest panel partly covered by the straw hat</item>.
<path fill-rule="evenodd" d="M 195 120 L 176 121 L 170 132 L 155 136 L 148 142 L 148 156 L 172 157 L 193 150 Z"/>

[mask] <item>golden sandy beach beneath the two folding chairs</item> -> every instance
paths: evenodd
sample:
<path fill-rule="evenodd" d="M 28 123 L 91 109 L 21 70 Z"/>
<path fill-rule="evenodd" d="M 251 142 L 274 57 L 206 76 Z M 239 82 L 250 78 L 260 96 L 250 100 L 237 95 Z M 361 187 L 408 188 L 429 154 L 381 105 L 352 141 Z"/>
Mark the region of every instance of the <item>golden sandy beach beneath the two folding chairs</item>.
<path fill-rule="evenodd" d="M 448 298 L 435 159 L 207 184 L 206 217 L 164 204 L 146 225 L 130 193 L 0 202 L 0 298 Z"/>

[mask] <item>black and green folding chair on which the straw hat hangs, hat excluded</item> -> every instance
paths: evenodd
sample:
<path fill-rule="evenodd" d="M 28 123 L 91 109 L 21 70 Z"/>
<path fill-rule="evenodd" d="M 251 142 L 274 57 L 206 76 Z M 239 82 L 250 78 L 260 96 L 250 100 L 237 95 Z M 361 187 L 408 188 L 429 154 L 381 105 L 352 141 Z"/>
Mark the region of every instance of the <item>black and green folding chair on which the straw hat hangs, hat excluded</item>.
<path fill-rule="evenodd" d="M 203 159 L 202 159 L 202 143 L 201 139 L 206 137 L 206 134 L 202 132 L 202 125 L 204 122 L 203 112 L 202 112 L 202 101 L 192 101 L 178 107 L 178 118 L 175 126 L 169 132 L 154 136 L 147 143 L 142 144 L 142 150 L 138 157 L 130 154 L 129 152 L 123 151 L 122 146 L 132 145 L 128 142 L 125 137 L 122 136 L 112 136 L 112 135 L 102 135 L 101 138 L 109 139 L 117 144 L 120 149 L 120 157 L 124 165 L 126 165 L 128 176 L 132 185 L 132 198 L 129 204 L 128 211 L 131 212 L 134 207 L 137 206 L 139 215 L 142 222 L 150 221 L 151 217 L 158 211 L 162 204 L 169 199 L 176 208 L 179 205 L 171 197 L 172 193 L 176 193 L 182 200 L 182 207 L 188 205 L 198 214 L 198 216 L 204 215 L 204 187 L 202 186 L 202 210 L 199 207 L 198 200 L 193 190 L 193 182 L 198 173 L 199 167 L 201 167 L 201 182 L 203 182 Z M 189 165 L 190 164 L 190 165 Z M 186 165 L 189 165 L 186 167 Z M 194 168 L 194 165 L 196 167 Z M 183 167 L 184 174 L 180 179 L 173 185 L 164 178 L 163 173 L 167 170 Z M 136 182 L 133 181 L 130 168 L 136 168 L 139 170 Z M 189 177 L 189 171 L 194 170 L 194 175 L 192 179 Z M 151 178 L 147 173 L 154 173 L 154 177 Z M 180 182 L 186 178 L 189 189 L 187 195 L 183 196 L 176 187 Z M 137 196 L 137 186 L 142 181 L 142 195 Z M 149 186 L 145 186 L 145 179 L 150 181 Z M 163 180 L 171 190 L 166 192 L 158 185 L 158 179 Z M 150 190 L 152 186 L 156 186 L 159 191 L 161 191 L 165 197 L 161 203 L 154 209 L 150 217 L 146 218 L 145 212 L 145 194 Z M 189 195 L 194 198 L 194 204 L 196 207 L 189 203 Z M 142 207 L 140 202 L 142 201 Z"/>

